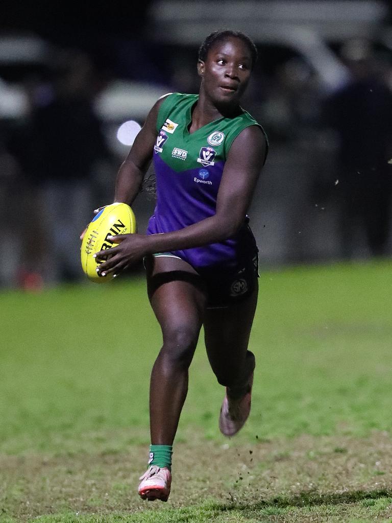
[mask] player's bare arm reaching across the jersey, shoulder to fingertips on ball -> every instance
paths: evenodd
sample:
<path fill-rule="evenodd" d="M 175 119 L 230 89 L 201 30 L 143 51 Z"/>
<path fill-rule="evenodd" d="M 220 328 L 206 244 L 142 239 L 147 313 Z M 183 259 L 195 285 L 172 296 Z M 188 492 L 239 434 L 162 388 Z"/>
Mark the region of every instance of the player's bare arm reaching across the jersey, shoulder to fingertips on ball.
<path fill-rule="evenodd" d="M 110 249 L 112 256 L 100 266 L 100 271 L 117 272 L 146 254 L 199 247 L 233 236 L 244 223 L 266 150 L 266 139 L 260 128 L 244 129 L 227 155 L 216 213 L 212 217 L 169 233 L 117 236 L 115 242 L 120 245 Z M 107 252 L 97 253 L 98 257 L 107 255 Z"/>

